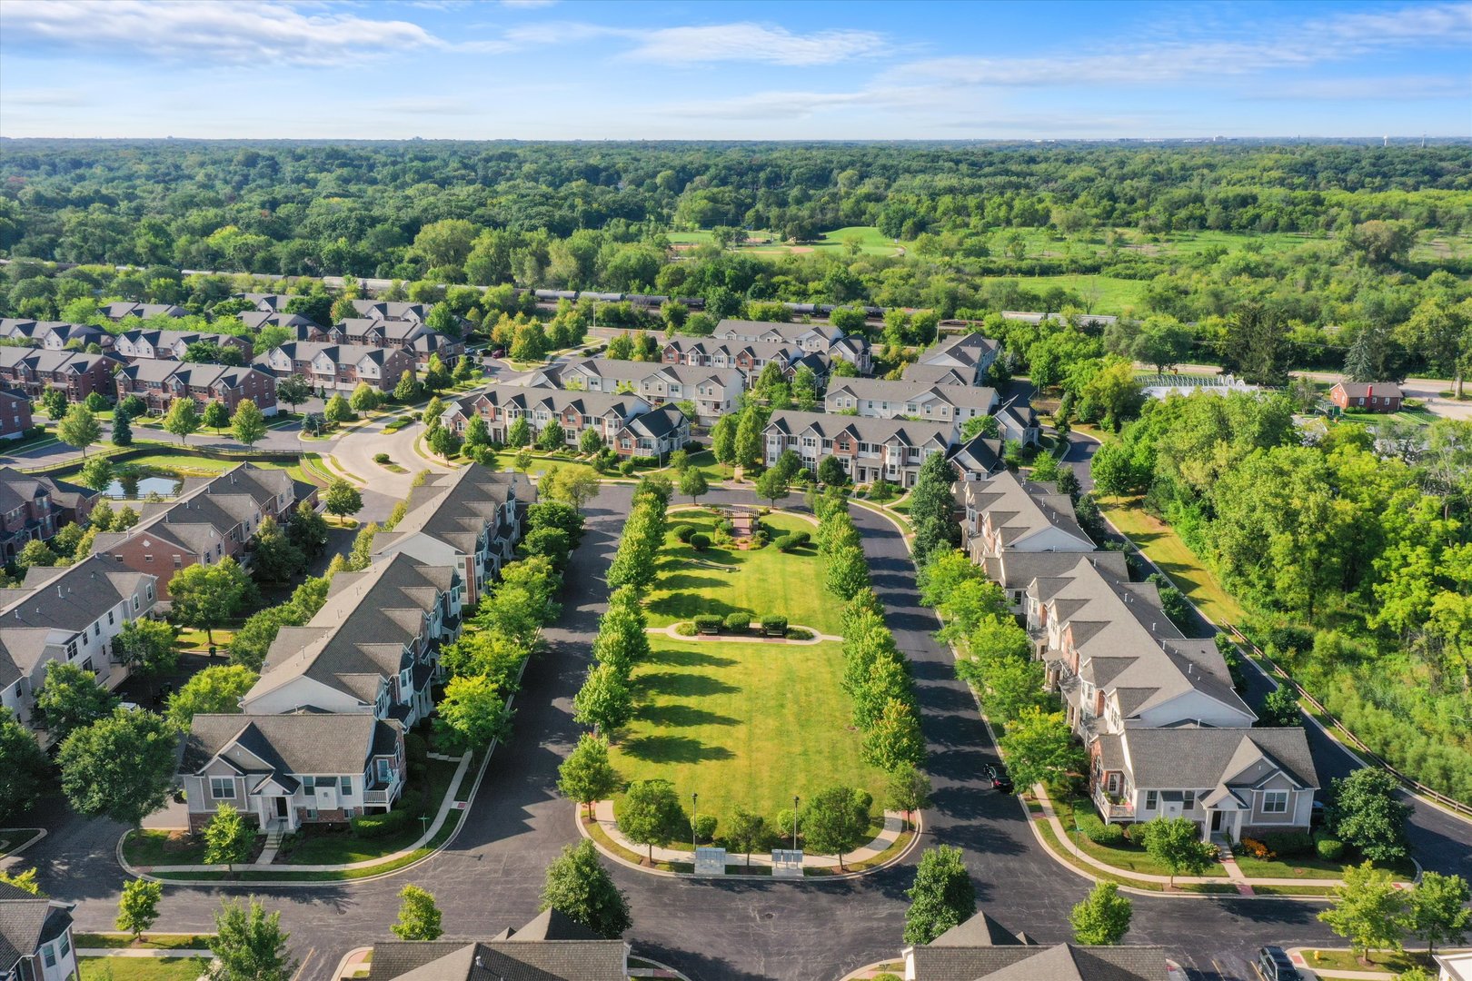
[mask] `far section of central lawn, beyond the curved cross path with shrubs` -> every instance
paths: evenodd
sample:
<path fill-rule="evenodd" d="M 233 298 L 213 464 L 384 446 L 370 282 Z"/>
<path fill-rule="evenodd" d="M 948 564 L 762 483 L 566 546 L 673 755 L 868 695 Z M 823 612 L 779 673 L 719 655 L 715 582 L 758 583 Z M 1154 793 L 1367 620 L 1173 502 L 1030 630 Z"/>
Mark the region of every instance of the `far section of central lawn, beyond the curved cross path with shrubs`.
<path fill-rule="evenodd" d="M 670 513 L 671 528 L 695 525 L 705 534 L 714 531 L 715 521 L 704 509 Z M 767 515 L 761 524 L 773 538 L 788 531 L 817 532 L 817 525 L 780 512 Z M 820 634 L 842 631 L 841 604 L 823 585 L 823 560 L 811 544 L 786 554 L 771 546 L 696 552 L 671 534 L 658 562 L 659 578 L 645 603 L 651 627 L 687 621 L 696 613 L 726 616 L 746 610 L 752 619 L 786 616 L 792 625 L 811 627 Z"/>

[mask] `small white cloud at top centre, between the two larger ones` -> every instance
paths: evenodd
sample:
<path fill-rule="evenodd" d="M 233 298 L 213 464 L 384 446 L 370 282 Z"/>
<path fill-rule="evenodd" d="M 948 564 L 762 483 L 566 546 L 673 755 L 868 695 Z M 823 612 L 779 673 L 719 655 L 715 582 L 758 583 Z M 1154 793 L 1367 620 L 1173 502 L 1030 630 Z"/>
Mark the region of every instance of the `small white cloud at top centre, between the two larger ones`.
<path fill-rule="evenodd" d="M 674 28 L 615 28 L 577 21 L 549 21 L 506 32 L 523 44 L 556 44 L 593 38 L 631 41 L 621 57 L 659 65 L 708 62 L 768 62 L 773 65 L 835 65 L 885 50 L 883 37 L 871 31 L 817 31 L 793 34 L 765 24 L 712 24 Z"/>

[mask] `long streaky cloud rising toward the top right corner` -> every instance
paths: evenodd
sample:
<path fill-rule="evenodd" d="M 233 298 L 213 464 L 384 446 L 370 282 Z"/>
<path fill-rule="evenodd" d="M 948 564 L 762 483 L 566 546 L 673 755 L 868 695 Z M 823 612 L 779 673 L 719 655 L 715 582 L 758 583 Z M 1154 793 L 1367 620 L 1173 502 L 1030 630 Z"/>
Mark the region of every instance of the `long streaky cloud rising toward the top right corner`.
<path fill-rule="evenodd" d="M 1113 41 L 1097 50 L 1041 57 L 935 57 L 895 69 L 970 85 L 1160 85 L 1181 81 L 1216 84 L 1223 76 L 1295 69 L 1384 51 L 1393 47 L 1472 44 L 1472 4 L 1404 7 L 1345 13 L 1257 29 L 1260 37 L 1156 38 Z"/>

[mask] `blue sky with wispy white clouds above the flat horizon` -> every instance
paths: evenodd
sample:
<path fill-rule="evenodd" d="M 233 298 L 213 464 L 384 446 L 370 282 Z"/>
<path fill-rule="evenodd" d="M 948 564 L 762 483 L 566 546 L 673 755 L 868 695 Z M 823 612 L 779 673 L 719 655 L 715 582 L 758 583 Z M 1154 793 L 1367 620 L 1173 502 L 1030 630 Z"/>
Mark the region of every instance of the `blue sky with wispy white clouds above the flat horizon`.
<path fill-rule="evenodd" d="M 7 137 L 1422 132 L 1472 3 L 0 3 Z"/>

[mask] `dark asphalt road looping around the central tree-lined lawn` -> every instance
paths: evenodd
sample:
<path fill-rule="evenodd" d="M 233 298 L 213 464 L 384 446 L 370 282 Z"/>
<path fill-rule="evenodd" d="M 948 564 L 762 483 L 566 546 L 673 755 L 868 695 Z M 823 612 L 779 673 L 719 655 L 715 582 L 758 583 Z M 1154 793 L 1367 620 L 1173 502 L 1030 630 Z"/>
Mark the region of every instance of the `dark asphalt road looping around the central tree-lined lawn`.
<path fill-rule="evenodd" d="M 250 891 L 280 909 L 306 965 L 305 981 L 331 975 L 350 947 L 387 938 L 396 893 L 415 882 L 436 893 L 452 935 L 489 935 L 528 919 L 542 874 L 562 846 L 577 840 L 573 807 L 553 790 L 556 766 L 578 734 L 571 697 L 587 663 L 587 644 L 606 591 L 604 574 L 621 534 L 630 488 L 609 485 L 589 507 L 589 534 L 574 553 L 564 587 L 564 615 L 548 631 L 548 650 L 527 669 L 517 696 L 515 735 L 496 750 L 465 827 L 443 853 L 381 881 L 312 888 L 169 887 L 160 928 L 210 927 L 221 896 Z M 712 502 L 749 502 L 717 491 Z M 1067 913 L 1088 882 L 1060 866 L 1033 840 L 1016 797 L 977 780 L 995 760 L 970 693 L 951 671 L 951 656 L 932 638 L 933 615 L 920 604 L 899 532 L 882 516 L 855 509 L 855 524 L 886 619 L 914 665 L 935 780 L 924 815 L 924 846 L 961 847 L 982 909 L 1039 941 L 1069 937 Z M 780 766 L 773 760 L 773 766 Z M 43 887 L 77 900 L 79 930 L 112 925 L 124 882 L 113 859 L 119 828 L 78 821 L 63 807 L 43 813 L 52 834 L 9 865 L 38 865 Z M 1432 843 L 1434 844 L 1434 843 Z M 1465 850 L 1465 846 L 1462 846 Z M 723 882 L 665 880 L 621 866 L 614 877 L 633 909 L 636 950 L 698 981 L 841 978 L 902 947 L 904 890 L 919 852 L 896 868 L 846 882 Z M 1247 957 L 1262 943 L 1322 944 L 1319 905 L 1135 897 L 1128 940 L 1164 944 L 1203 980 L 1245 980 Z"/>

